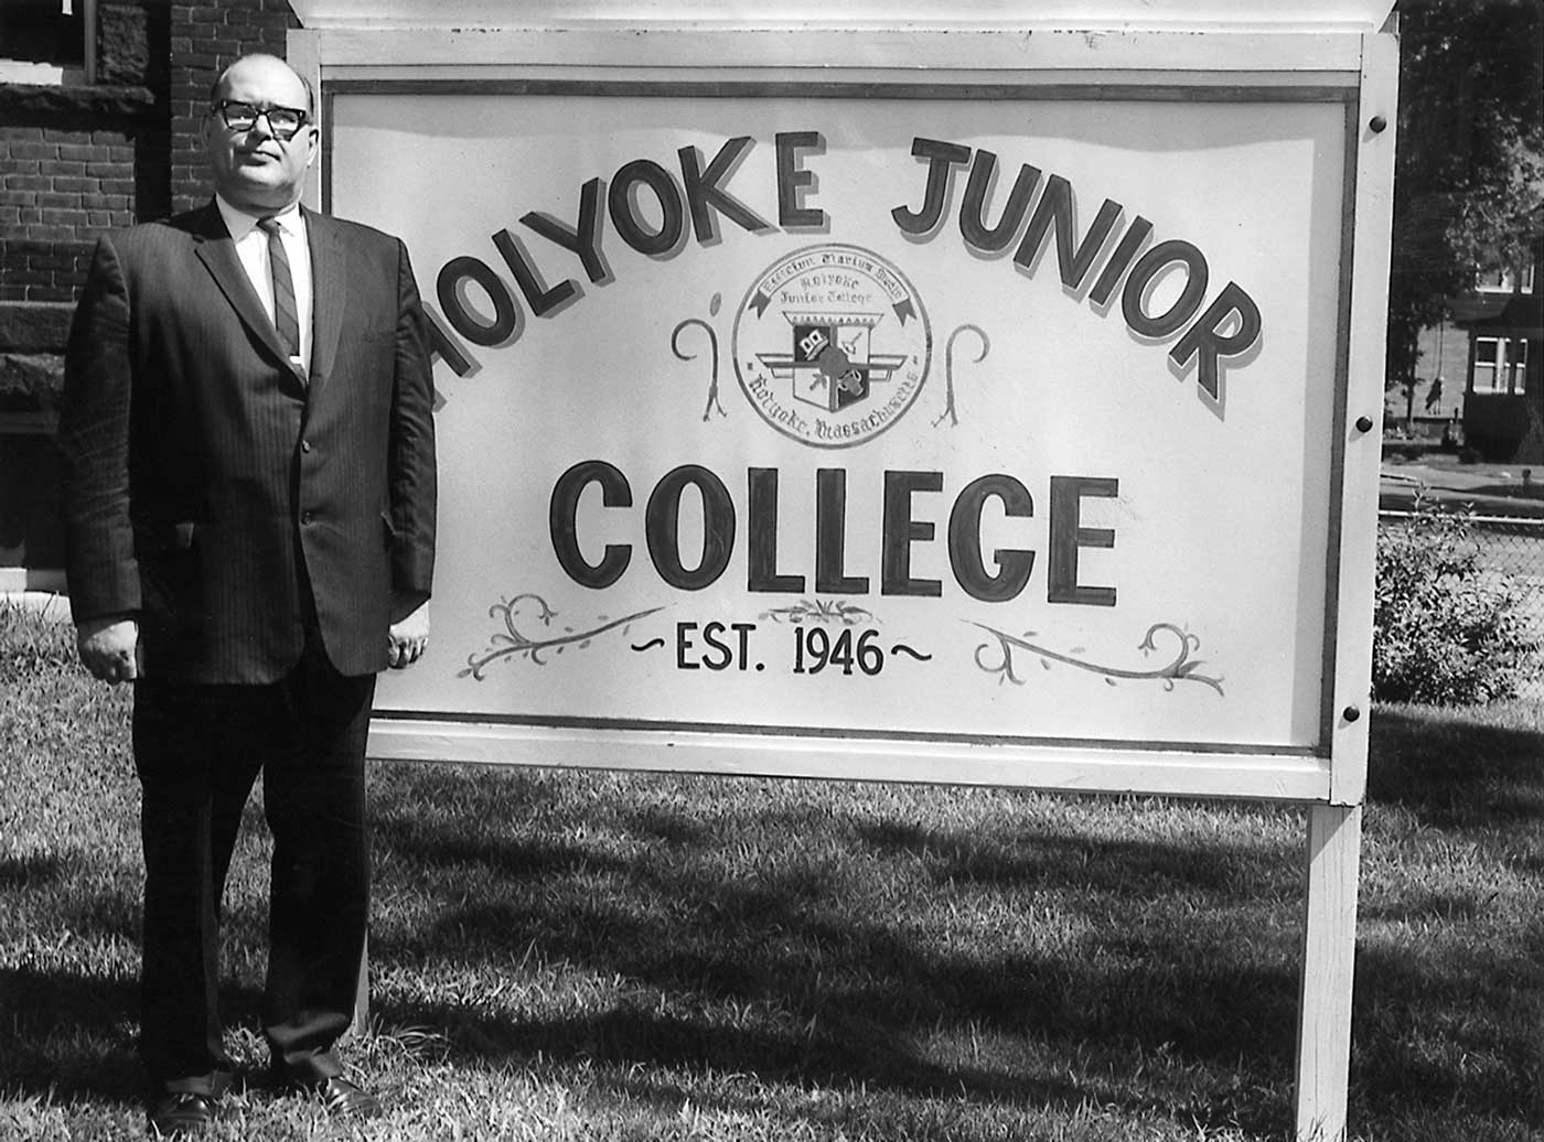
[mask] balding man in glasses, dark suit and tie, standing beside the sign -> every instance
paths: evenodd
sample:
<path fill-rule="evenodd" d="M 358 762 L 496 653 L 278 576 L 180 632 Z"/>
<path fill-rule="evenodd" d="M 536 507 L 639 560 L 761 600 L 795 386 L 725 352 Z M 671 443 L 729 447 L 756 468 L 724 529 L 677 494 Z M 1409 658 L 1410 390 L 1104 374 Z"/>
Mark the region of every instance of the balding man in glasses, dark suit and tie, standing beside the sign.
<path fill-rule="evenodd" d="M 145 852 L 141 1056 L 153 1130 L 232 1074 L 219 904 L 262 772 L 273 835 L 262 1025 L 275 1079 L 374 1114 L 349 1026 L 369 870 L 375 674 L 428 642 L 434 426 L 401 242 L 300 208 L 310 85 L 273 56 L 215 83 L 215 201 L 103 238 L 60 411 L 80 659 L 134 684 Z"/>

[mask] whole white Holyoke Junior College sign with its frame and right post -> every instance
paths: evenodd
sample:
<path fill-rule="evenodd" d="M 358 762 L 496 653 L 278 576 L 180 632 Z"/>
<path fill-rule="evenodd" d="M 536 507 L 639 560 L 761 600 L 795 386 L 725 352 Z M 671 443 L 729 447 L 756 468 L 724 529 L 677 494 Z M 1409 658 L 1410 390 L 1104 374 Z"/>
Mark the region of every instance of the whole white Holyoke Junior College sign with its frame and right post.
<path fill-rule="evenodd" d="M 1309 806 L 1345 1133 L 1388 0 L 296 0 L 435 330 L 398 759 Z"/>

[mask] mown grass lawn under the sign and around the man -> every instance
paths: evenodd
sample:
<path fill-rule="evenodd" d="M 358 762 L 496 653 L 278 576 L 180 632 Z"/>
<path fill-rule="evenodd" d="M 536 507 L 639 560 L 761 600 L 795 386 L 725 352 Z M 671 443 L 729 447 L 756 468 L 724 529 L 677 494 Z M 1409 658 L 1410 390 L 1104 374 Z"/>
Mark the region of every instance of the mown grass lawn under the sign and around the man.
<path fill-rule="evenodd" d="M 0 608 L 0 1139 L 142 1130 L 128 696 Z M 1544 1130 L 1544 708 L 1380 708 L 1351 1133 Z M 452 765 L 371 775 L 366 1139 L 1286 1139 L 1303 813 Z M 227 894 L 256 1032 L 267 838 Z M 338 1133 L 259 1083 L 219 1139 Z"/>

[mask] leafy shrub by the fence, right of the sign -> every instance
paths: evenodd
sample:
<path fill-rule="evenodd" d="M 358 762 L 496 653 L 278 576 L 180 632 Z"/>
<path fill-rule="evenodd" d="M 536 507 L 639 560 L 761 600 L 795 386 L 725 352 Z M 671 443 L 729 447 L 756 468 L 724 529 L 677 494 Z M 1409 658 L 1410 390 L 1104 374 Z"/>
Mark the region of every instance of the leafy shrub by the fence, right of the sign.
<path fill-rule="evenodd" d="M 1536 653 L 1516 585 L 1481 563 L 1473 512 L 1442 511 L 1417 492 L 1408 520 L 1379 528 L 1376 699 L 1484 705 L 1513 698 Z"/>

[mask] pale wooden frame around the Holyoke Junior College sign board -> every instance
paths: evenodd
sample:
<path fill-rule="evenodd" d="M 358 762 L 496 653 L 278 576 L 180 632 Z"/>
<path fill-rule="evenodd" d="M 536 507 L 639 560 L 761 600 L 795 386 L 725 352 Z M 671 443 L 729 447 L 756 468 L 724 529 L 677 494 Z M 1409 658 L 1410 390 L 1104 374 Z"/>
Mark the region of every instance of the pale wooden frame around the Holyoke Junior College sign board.
<path fill-rule="evenodd" d="M 882 781 L 1021 786 L 1048 790 L 1237 796 L 1356 804 L 1365 787 L 1366 677 L 1376 534 L 1377 434 L 1359 427 L 1382 407 L 1382 293 L 1357 292 L 1360 267 L 1379 253 L 1365 236 L 1377 208 L 1371 165 L 1391 153 L 1387 134 L 1365 125 L 1370 52 L 1377 37 L 1326 32 L 1189 34 L 1164 31 L 1036 34 L 875 29 L 829 31 L 811 45 L 781 29 L 758 31 L 454 31 L 323 29 L 295 32 L 292 59 L 309 73 L 323 108 L 324 153 L 310 201 L 330 207 L 332 108 L 358 93 L 434 93 L 468 76 L 491 91 L 598 85 L 619 93 L 784 91 L 815 99 L 863 91 L 872 97 L 953 93 L 1034 99 L 1192 102 L 1329 102 L 1345 106 L 1339 380 L 1334 412 L 1326 630 L 1319 742 L 1303 748 L 1194 744 L 1144 747 L 1129 741 L 778 735 L 701 731 L 692 725 L 608 727 L 378 716 L 372 755 L 601 765 L 645 770 L 832 776 Z M 625 65 L 619 60 L 627 60 Z M 703 66 L 701 60 L 716 60 Z M 791 62 L 800 76 L 791 79 Z M 823 71 L 841 60 L 841 82 Z M 854 60 L 858 60 L 854 63 Z M 922 63 L 919 65 L 919 60 Z M 1377 65 L 1373 65 L 1373 73 Z M 1388 117 L 1385 116 L 1385 120 Z M 1382 194 L 1387 211 L 1387 177 Z M 1385 239 L 1387 241 L 1387 239 Z M 1382 255 L 1387 258 L 1387 250 Z M 422 272 L 422 267 L 420 267 Z M 1351 378 L 1357 378 L 1353 386 Z M 1353 390 L 1354 389 L 1354 390 Z M 454 557 L 454 556 L 451 556 Z"/>

